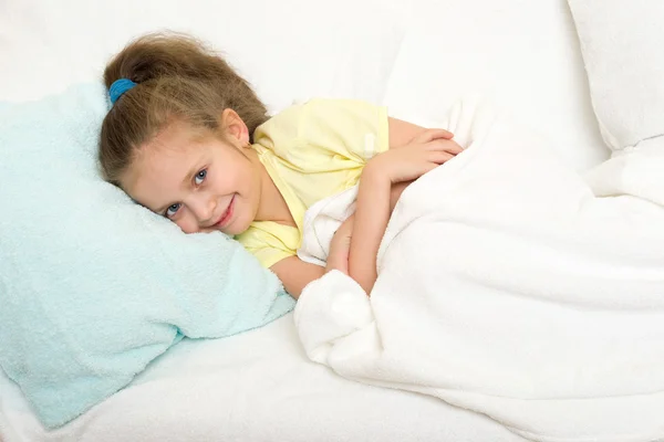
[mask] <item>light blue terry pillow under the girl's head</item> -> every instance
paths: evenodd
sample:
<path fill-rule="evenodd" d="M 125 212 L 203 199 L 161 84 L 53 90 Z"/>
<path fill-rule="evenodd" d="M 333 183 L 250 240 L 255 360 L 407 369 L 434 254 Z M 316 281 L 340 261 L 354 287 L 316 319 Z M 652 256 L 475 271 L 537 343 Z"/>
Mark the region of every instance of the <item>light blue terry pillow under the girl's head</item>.
<path fill-rule="evenodd" d="M 106 112 L 97 84 L 0 106 L 0 365 L 48 428 L 183 336 L 234 335 L 294 304 L 237 242 L 185 235 L 101 179 Z"/>

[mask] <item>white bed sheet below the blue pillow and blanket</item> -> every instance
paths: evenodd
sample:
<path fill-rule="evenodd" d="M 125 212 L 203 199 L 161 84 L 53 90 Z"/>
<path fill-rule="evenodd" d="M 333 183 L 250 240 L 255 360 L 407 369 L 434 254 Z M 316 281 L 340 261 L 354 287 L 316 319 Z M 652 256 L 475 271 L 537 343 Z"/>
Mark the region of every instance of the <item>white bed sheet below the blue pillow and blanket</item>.
<path fill-rule="evenodd" d="M 522 441 L 488 418 L 309 361 L 292 315 L 227 339 L 185 340 L 131 387 L 45 432 L 0 376 L 4 442 Z"/>

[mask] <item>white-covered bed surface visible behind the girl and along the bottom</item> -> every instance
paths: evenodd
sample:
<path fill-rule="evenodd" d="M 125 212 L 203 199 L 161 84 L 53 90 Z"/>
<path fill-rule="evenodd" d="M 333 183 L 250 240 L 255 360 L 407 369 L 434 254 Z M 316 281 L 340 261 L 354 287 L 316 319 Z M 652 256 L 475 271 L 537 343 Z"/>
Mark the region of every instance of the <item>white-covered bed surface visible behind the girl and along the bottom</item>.
<path fill-rule="evenodd" d="M 163 28 L 222 50 L 271 112 L 312 96 L 356 97 L 435 125 L 456 98 L 479 92 L 559 140 L 558 154 L 577 170 L 609 157 L 564 0 L 9 0 L 0 6 L 0 99 L 37 99 L 94 80 L 128 39 Z M 184 340 L 55 430 L 2 373 L 0 439 L 523 440 L 485 415 L 310 361 L 292 314 L 225 339 Z"/>

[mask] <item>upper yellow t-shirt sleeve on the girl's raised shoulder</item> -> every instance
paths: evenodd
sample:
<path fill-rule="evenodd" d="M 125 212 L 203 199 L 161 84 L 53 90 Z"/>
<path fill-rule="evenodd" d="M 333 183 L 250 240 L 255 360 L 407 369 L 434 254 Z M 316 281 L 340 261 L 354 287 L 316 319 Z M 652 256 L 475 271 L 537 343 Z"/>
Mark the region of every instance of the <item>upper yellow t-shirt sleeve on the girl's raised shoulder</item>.
<path fill-rule="evenodd" d="M 330 161 L 364 165 L 387 150 L 387 108 L 357 99 L 311 99 L 270 118 L 257 143 L 295 167 L 330 170 Z"/>

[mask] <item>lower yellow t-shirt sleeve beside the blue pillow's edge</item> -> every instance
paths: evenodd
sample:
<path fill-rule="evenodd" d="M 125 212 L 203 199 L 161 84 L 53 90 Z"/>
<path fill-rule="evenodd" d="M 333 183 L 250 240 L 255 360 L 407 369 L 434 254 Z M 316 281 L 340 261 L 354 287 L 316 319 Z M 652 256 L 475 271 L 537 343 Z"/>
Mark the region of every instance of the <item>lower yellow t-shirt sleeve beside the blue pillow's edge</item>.
<path fill-rule="evenodd" d="M 237 235 L 236 240 L 256 256 L 263 267 L 270 269 L 284 257 L 297 254 L 292 245 L 298 243 L 299 233 L 297 229 L 287 225 L 261 221 Z"/>

